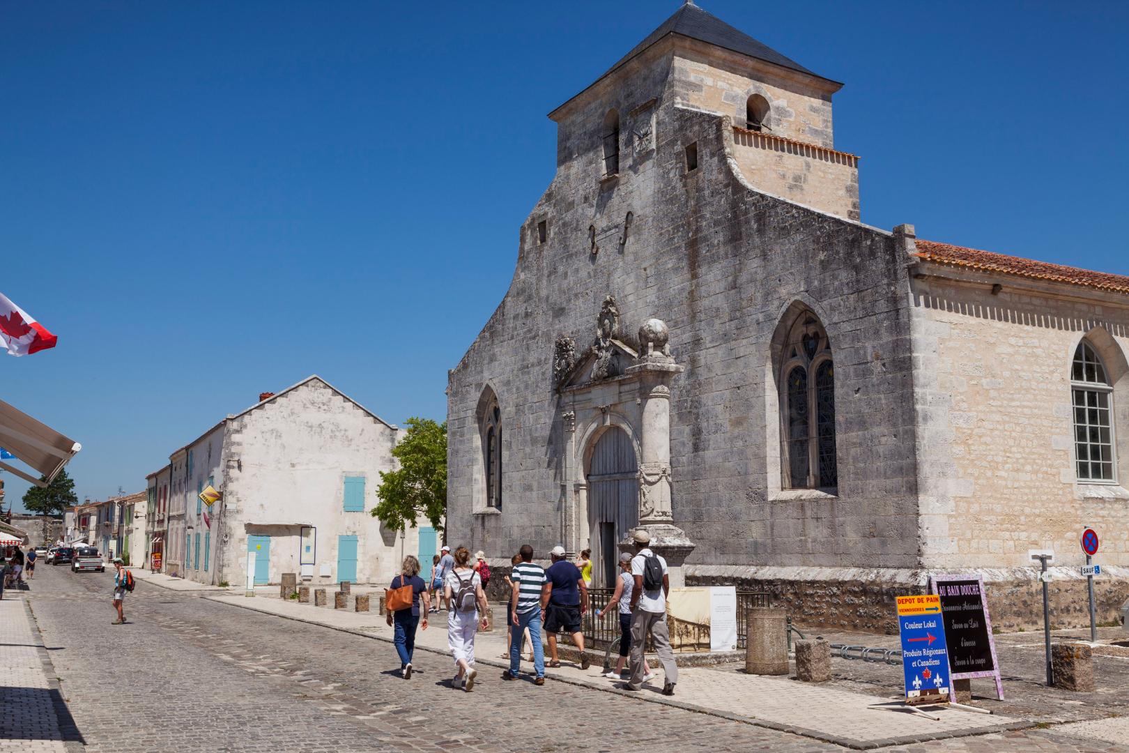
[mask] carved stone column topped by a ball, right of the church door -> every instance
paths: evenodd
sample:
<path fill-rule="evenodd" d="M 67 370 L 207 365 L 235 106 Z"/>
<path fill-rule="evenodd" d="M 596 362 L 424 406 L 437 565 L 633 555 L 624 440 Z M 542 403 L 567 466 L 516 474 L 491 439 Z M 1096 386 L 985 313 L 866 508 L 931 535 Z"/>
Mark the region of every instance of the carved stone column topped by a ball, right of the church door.
<path fill-rule="evenodd" d="M 642 426 L 639 430 L 639 527 L 650 534 L 650 549 L 666 560 L 671 588 L 686 585 L 682 564 L 694 549 L 674 525 L 671 504 L 671 382 L 685 370 L 671 356 L 668 332 L 660 319 L 639 327 L 641 352 L 625 370 L 640 383 Z M 632 551 L 631 534 L 620 549 Z"/>

